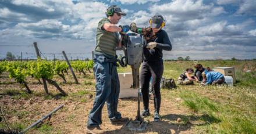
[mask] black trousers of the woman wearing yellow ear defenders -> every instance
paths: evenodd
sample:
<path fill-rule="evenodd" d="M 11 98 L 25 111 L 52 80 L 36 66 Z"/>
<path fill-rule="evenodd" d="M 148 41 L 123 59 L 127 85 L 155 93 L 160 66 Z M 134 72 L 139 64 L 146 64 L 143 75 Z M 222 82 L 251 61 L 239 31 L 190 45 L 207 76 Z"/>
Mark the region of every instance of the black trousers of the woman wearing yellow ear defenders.
<path fill-rule="evenodd" d="M 141 92 L 143 96 L 144 109 L 148 109 L 149 105 L 149 88 L 150 88 L 150 78 L 152 77 L 151 88 L 154 95 L 154 106 L 155 111 L 159 113 L 161 106 L 161 93 L 160 93 L 160 83 L 163 75 L 163 61 L 143 61 L 140 71 L 140 84 Z"/>

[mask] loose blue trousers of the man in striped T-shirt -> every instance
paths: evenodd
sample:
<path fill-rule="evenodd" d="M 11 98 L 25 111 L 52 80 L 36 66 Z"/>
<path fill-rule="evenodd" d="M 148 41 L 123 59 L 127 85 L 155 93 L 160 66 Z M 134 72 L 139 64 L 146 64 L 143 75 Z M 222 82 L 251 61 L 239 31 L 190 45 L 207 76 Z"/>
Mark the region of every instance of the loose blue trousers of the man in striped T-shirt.
<path fill-rule="evenodd" d="M 102 108 L 106 102 L 109 119 L 119 119 L 118 97 L 120 84 L 116 70 L 116 57 L 105 54 L 94 55 L 94 77 L 96 80 L 96 95 L 93 108 L 88 116 L 87 126 L 102 124 Z"/>

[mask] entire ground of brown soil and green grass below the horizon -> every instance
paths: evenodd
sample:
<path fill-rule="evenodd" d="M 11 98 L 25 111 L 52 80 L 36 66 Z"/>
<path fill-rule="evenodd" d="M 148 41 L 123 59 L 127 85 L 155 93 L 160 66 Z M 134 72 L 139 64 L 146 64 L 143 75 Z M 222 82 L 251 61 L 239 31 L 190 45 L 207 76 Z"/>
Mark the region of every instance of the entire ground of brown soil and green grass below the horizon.
<path fill-rule="evenodd" d="M 204 67 L 235 67 L 236 84 L 227 86 L 178 86 L 176 89 L 161 89 L 161 118 L 153 122 L 152 116 L 143 132 L 129 131 L 122 125 L 111 125 L 106 107 L 102 111 L 102 133 L 256 133 L 256 60 L 211 60 L 198 61 Z M 175 78 L 193 61 L 165 61 L 163 76 Z M 250 70 L 250 71 L 248 71 Z M 119 73 L 130 72 L 130 67 L 118 68 Z M 69 95 L 61 96 L 49 85 L 51 95 L 45 95 L 43 85 L 33 78 L 27 79 L 33 94 L 24 92 L 7 73 L 0 75 L 0 105 L 12 130 L 20 131 L 55 107 L 65 104 L 49 121 L 28 133 L 85 133 L 88 112 L 93 106 L 94 89 L 92 73 L 76 74 L 80 84 L 74 84 L 72 75 L 67 75 L 67 84 L 57 75 L 54 79 Z M 141 102 L 142 103 L 142 102 Z M 123 117 L 136 117 L 136 99 L 120 99 L 119 111 Z M 153 113 L 154 102 L 150 100 Z M 142 110 L 142 107 L 141 107 Z M 8 130 L 4 121 L 0 129 Z"/>

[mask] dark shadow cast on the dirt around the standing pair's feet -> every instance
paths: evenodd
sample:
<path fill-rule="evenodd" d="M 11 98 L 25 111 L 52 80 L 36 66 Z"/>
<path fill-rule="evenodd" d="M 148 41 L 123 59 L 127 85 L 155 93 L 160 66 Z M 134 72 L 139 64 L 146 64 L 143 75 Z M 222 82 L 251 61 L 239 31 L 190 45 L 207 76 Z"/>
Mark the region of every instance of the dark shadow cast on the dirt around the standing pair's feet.
<path fill-rule="evenodd" d="M 181 118 L 180 122 L 177 122 L 178 118 Z M 159 122 L 149 121 L 145 131 L 130 131 L 123 125 L 122 128 L 118 130 L 106 131 L 104 133 L 180 133 L 189 131 L 192 126 L 208 125 L 213 122 L 218 123 L 220 121 L 219 119 L 205 114 L 201 116 L 168 114 L 163 115 L 162 120 Z"/>

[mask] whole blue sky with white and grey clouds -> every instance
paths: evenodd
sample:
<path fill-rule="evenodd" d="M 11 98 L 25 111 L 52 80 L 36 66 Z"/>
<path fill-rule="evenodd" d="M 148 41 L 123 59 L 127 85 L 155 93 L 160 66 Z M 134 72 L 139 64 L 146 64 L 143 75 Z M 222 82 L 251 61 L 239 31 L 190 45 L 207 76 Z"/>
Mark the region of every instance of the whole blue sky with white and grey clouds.
<path fill-rule="evenodd" d="M 62 50 L 91 58 L 109 5 L 127 13 L 122 25 L 148 27 L 150 17 L 163 15 L 173 46 L 164 59 L 256 59 L 255 0 L 0 0 L 0 58 L 8 51 L 33 57 L 33 42 L 48 59 L 61 59 Z"/>

